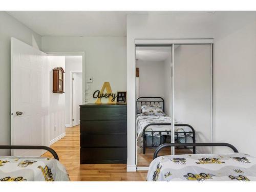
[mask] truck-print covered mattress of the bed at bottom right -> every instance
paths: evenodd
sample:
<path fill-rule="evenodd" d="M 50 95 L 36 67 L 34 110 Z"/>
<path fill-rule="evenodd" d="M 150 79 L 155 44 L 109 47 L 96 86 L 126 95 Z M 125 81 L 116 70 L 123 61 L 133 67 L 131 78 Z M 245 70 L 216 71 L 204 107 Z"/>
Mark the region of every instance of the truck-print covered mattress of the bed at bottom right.
<path fill-rule="evenodd" d="M 243 154 L 189 154 L 154 159 L 147 181 L 256 181 L 256 158 Z"/>

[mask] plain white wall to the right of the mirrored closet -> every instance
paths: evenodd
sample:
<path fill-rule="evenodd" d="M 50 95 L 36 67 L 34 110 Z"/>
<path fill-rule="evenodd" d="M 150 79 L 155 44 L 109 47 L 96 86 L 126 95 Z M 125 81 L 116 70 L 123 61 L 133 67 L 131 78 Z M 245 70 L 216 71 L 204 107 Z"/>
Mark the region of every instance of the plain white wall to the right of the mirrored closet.
<path fill-rule="evenodd" d="M 256 12 L 217 12 L 215 31 L 214 141 L 256 156 Z"/>

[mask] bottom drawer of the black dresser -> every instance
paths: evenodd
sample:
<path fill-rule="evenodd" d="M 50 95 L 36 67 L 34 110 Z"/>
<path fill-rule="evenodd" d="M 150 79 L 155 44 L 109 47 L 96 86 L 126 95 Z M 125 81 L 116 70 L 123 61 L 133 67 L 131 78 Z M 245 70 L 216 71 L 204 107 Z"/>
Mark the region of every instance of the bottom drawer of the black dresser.
<path fill-rule="evenodd" d="M 127 148 L 80 148 L 80 163 L 126 163 Z"/>

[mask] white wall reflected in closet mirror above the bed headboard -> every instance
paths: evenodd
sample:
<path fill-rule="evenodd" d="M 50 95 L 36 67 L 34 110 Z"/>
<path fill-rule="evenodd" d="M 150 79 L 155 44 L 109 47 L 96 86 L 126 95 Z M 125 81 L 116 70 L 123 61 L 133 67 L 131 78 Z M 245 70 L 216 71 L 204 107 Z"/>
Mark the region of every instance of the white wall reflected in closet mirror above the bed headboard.
<path fill-rule="evenodd" d="M 137 60 L 140 97 L 164 97 L 164 62 Z"/>

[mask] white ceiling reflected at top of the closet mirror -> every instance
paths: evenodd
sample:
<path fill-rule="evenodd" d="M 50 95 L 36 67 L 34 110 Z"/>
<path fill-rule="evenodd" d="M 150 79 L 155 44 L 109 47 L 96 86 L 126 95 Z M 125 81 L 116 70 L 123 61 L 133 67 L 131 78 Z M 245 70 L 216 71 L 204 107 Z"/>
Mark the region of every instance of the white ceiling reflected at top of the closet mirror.
<path fill-rule="evenodd" d="M 136 47 L 136 59 L 164 61 L 170 55 L 170 47 Z"/>

